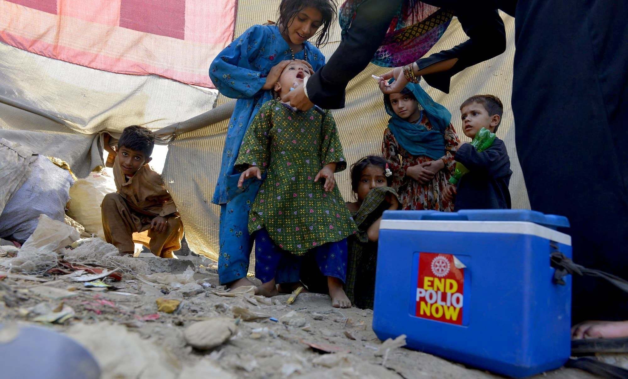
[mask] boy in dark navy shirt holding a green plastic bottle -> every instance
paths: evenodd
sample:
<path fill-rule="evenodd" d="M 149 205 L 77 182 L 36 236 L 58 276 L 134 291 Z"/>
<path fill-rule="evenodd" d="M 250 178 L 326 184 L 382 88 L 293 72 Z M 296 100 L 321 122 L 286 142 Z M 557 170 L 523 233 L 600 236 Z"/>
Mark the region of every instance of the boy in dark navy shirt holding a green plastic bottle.
<path fill-rule="evenodd" d="M 468 98 L 460 105 L 462 131 L 471 139 L 478 136 L 482 128 L 494 133 L 501 122 L 503 110 L 504 106 L 497 96 L 475 95 Z M 489 133 L 481 134 L 485 137 Z M 457 164 L 463 164 L 468 173 L 460 176 L 457 186 L 450 184 L 443 192 L 445 200 L 455 199 L 453 211 L 511 208 L 508 183 L 512 171 L 506 145 L 497 137 L 490 146 L 484 145 L 484 149 L 475 147 L 479 146 L 477 143 L 462 142 L 458 145 L 455 160 Z"/>

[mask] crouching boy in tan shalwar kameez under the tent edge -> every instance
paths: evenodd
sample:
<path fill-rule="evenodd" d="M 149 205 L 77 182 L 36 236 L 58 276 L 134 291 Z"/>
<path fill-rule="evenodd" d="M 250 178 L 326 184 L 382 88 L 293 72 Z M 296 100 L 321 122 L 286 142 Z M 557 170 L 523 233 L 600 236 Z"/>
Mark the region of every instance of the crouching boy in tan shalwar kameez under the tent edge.
<path fill-rule="evenodd" d="M 133 233 L 148 230 L 150 241 L 144 244 L 151 252 L 175 258 L 183 227 L 161 175 L 148 166 L 153 139 L 153 132 L 144 127 L 133 125 L 122 131 L 113 168 L 117 192 L 102 200 L 102 227 L 105 240 L 121 254 L 133 255 Z"/>

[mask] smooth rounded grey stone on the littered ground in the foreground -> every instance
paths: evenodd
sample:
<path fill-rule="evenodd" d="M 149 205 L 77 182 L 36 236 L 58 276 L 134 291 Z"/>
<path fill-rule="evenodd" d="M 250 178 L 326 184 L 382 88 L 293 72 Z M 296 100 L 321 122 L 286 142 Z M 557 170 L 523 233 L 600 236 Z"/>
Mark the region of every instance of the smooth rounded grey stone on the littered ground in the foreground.
<path fill-rule="evenodd" d="M 188 326 L 183 332 L 185 341 L 198 350 L 209 350 L 225 343 L 236 333 L 232 319 L 213 318 Z"/>

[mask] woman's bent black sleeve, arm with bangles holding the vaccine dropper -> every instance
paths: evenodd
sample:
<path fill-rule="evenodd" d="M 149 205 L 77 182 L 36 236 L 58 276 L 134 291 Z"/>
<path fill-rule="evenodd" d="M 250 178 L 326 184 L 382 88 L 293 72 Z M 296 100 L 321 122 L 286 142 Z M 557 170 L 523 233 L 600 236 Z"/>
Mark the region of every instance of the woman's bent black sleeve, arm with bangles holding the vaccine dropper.
<path fill-rule="evenodd" d="M 453 75 L 467 67 L 489 60 L 506 51 L 506 28 L 497 9 L 480 6 L 476 1 L 425 1 L 425 3 L 450 3 L 454 13 L 469 39 L 450 50 L 443 50 L 427 58 L 416 61 L 419 69 L 426 68 L 443 60 L 458 58 L 450 70 L 423 75 L 431 87 L 449 93 L 449 84 Z M 443 4 L 444 5 L 444 4 Z M 443 6 L 441 5 L 441 6 Z M 308 88 L 309 89 L 309 88 Z"/>

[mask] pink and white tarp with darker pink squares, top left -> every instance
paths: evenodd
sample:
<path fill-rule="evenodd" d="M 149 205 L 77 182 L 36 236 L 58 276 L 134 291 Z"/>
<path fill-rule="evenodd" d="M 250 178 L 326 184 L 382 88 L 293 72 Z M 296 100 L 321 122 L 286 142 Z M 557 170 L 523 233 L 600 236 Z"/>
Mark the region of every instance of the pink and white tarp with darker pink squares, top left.
<path fill-rule="evenodd" d="M 0 41 L 99 70 L 214 88 L 237 0 L 0 0 Z"/>

